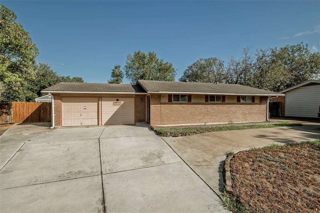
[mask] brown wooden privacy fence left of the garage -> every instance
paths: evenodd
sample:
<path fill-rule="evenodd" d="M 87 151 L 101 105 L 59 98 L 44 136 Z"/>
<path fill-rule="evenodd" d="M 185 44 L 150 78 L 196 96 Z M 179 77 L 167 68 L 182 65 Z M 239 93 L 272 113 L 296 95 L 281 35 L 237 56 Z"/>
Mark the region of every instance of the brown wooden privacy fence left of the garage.
<path fill-rule="evenodd" d="M 1 102 L 0 124 L 51 122 L 51 103 Z"/>

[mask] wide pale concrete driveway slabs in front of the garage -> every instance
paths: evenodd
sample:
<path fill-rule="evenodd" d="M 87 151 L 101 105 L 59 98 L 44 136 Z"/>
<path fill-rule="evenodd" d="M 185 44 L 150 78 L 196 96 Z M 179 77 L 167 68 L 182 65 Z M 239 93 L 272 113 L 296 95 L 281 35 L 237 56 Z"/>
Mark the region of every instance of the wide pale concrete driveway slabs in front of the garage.
<path fill-rule="evenodd" d="M 23 143 L 0 183 L 1 212 L 228 212 L 145 125 L 47 132 Z"/>

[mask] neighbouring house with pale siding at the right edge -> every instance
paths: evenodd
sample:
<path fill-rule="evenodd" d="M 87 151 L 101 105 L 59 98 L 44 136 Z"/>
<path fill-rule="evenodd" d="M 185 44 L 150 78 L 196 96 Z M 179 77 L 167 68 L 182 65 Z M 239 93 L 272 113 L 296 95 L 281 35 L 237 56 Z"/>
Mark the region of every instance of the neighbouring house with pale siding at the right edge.
<path fill-rule="evenodd" d="M 281 103 L 281 117 L 318 117 L 320 113 L 320 81 L 309 80 L 279 93 L 272 99 L 273 102 Z"/>

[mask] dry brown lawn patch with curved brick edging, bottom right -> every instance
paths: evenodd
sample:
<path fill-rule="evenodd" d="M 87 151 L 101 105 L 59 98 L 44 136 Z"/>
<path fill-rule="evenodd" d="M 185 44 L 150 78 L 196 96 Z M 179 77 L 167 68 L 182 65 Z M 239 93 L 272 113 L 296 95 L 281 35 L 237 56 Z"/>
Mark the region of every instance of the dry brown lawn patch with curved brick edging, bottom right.
<path fill-rule="evenodd" d="M 230 171 L 244 212 L 320 212 L 319 140 L 239 152 Z"/>

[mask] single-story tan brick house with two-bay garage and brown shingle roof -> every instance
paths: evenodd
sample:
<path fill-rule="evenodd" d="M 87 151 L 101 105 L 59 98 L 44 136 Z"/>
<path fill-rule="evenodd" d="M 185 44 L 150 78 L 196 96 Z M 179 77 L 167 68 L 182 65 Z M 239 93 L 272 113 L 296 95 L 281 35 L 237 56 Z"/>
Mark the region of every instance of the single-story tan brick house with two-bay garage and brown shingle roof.
<path fill-rule="evenodd" d="M 239 84 L 147 80 L 136 84 L 63 82 L 41 92 L 53 97 L 55 127 L 266 121 L 269 98 L 284 96 Z"/>

